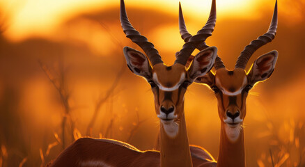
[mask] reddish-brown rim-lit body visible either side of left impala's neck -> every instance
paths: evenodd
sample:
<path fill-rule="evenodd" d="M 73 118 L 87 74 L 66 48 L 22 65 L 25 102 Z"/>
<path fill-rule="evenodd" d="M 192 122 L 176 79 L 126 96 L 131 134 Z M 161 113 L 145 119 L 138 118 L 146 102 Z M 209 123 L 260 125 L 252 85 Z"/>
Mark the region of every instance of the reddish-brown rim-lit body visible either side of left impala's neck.
<path fill-rule="evenodd" d="M 194 166 L 216 166 L 214 159 L 205 150 L 198 147 L 190 149 L 191 152 L 194 152 L 192 154 Z M 160 166 L 160 152 L 154 150 L 141 152 L 127 143 L 111 139 L 79 138 L 66 148 L 50 166 L 158 167 Z"/>

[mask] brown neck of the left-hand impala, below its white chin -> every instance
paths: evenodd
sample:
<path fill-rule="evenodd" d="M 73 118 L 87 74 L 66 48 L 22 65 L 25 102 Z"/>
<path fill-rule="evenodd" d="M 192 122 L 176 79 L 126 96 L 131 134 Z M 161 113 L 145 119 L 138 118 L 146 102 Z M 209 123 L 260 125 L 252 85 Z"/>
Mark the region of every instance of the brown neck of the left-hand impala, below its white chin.
<path fill-rule="evenodd" d="M 183 105 L 182 105 L 182 110 Z M 189 150 L 189 138 L 187 137 L 187 127 L 185 124 L 185 114 L 182 111 L 179 130 L 177 136 L 169 137 L 160 123 L 160 159 L 161 167 L 192 167 L 191 152 Z"/>

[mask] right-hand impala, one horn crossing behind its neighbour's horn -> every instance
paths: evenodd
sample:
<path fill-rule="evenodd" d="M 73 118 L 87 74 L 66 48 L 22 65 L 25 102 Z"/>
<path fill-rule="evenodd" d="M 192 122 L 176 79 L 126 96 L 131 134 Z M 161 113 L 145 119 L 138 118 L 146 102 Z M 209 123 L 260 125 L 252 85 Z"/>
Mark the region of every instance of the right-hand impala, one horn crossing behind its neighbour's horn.
<path fill-rule="evenodd" d="M 180 9 L 180 34 L 185 42 L 192 37 L 185 27 Z M 260 47 L 271 42 L 277 28 L 277 1 L 274 14 L 267 33 L 253 40 L 237 58 L 234 70 L 227 70 L 221 58 L 217 56 L 213 74 L 208 72 L 198 77 L 196 83 L 206 84 L 214 90 L 218 101 L 218 113 L 221 120 L 221 134 L 217 166 L 239 167 L 246 166 L 244 153 L 243 122 L 246 116 L 246 99 L 254 84 L 268 79 L 276 64 L 277 51 L 270 51 L 254 61 L 249 72 L 245 71 L 251 55 Z M 204 43 L 198 45 L 199 50 L 205 49 Z M 190 60 L 191 61 L 191 60 Z"/>

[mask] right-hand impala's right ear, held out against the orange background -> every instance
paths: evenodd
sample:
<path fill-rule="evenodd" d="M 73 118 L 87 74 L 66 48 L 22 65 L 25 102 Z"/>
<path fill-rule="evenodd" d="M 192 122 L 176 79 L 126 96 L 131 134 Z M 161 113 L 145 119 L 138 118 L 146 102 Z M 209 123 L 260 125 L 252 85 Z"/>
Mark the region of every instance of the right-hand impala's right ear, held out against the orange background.
<path fill-rule="evenodd" d="M 264 81 L 271 76 L 274 71 L 278 54 L 277 51 L 270 51 L 254 61 L 247 74 L 251 84 L 256 84 L 258 81 Z"/>

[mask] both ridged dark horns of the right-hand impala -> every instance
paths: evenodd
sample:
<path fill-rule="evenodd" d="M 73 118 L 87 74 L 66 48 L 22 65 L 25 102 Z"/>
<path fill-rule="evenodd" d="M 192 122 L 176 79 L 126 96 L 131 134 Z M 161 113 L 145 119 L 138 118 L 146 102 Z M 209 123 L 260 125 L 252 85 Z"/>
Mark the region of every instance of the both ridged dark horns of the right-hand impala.
<path fill-rule="evenodd" d="M 214 3 L 214 1 L 213 1 L 213 3 Z M 212 11 L 212 9 L 211 9 L 211 11 Z M 216 13 L 216 11 L 215 11 L 215 13 Z M 215 14 L 215 16 L 216 16 L 216 14 Z M 185 26 L 185 20 L 182 15 L 181 6 L 179 8 L 179 29 L 180 29 L 181 38 L 183 40 L 185 40 L 185 42 L 189 42 L 192 35 L 187 31 L 187 28 Z M 251 41 L 250 44 L 247 45 L 247 47 L 244 47 L 244 50 L 242 51 L 240 56 L 237 58 L 235 68 L 239 67 L 239 68 L 245 69 L 246 65 L 247 65 L 249 59 L 251 58 L 251 56 L 253 55 L 253 53 L 257 49 L 259 49 L 263 45 L 266 45 L 268 42 L 271 42 L 274 39 L 275 34 L 276 34 L 276 29 L 277 29 L 277 0 L 276 0 L 275 7 L 274 7 L 272 21 L 270 23 L 267 33 L 258 37 L 257 40 Z M 206 45 L 205 42 L 202 42 L 200 45 L 197 45 L 196 48 L 199 50 L 203 50 L 205 48 L 208 48 L 208 45 Z M 215 70 L 217 70 L 219 68 L 224 68 L 224 67 L 225 67 L 225 65 L 221 61 L 221 58 L 219 58 L 219 56 L 217 56 L 217 58 L 215 59 L 215 63 L 214 63 Z"/>

